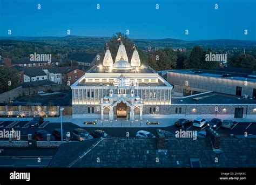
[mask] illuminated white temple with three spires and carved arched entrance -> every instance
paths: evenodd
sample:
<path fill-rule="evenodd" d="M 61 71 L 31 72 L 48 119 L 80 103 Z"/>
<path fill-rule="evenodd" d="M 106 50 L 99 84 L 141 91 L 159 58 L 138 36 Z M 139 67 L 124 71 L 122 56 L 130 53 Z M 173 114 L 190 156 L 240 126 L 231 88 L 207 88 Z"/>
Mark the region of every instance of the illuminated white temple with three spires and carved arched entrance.
<path fill-rule="evenodd" d="M 73 118 L 168 117 L 172 88 L 151 67 L 141 65 L 136 48 L 129 62 L 122 43 L 114 63 L 107 48 L 103 65 L 93 66 L 71 86 Z"/>

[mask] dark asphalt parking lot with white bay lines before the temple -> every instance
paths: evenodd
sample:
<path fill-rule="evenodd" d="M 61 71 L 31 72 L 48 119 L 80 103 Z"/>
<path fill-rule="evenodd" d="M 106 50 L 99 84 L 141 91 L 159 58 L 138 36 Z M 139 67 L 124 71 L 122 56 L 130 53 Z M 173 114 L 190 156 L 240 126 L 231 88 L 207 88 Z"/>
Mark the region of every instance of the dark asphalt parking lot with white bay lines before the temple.
<path fill-rule="evenodd" d="M 49 133 L 52 133 L 53 129 L 60 128 L 59 122 L 49 122 L 44 121 L 42 125 L 39 127 L 29 127 L 29 121 L 0 121 L 0 130 L 11 130 L 14 128 L 15 131 L 21 131 L 21 140 L 28 140 L 28 134 L 33 134 L 39 129 L 43 129 L 45 131 L 48 131 Z M 73 129 L 79 128 L 79 126 L 72 124 L 72 122 L 63 122 L 63 129 L 66 132 L 72 133 Z M 126 137 L 127 133 L 129 133 L 130 137 L 136 136 L 136 132 L 139 130 L 144 130 L 151 132 L 152 134 L 156 135 L 156 129 L 160 127 L 85 127 L 84 129 L 87 132 L 92 132 L 96 129 L 101 129 L 105 132 L 107 132 L 109 135 L 114 137 Z M 183 130 L 187 131 L 205 131 L 207 126 L 204 126 L 202 128 L 194 127 L 194 126 L 185 126 Z M 170 131 L 172 133 L 175 133 L 180 128 L 176 126 L 169 126 L 169 127 L 161 127 L 161 129 Z M 230 134 L 234 135 L 244 135 L 246 132 L 248 135 L 256 135 L 256 122 L 237 122 L 235 125 L 231 128 L 223 128 L 219 126 L 215 129 L 217 133 L 220 134 L 222 137 L 230 136 Z M 0 140 L 8 140 L 6 138 L 1 138 Z"/>

